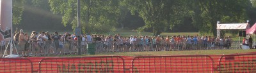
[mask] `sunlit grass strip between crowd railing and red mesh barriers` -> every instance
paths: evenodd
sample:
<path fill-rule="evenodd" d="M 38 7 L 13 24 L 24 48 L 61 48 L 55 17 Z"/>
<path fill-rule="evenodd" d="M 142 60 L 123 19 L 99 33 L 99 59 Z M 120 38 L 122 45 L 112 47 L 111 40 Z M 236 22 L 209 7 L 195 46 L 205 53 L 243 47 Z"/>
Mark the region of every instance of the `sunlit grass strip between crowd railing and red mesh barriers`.
<path fill-rule="evenodd" d="M 144 52 L 112 52 L 95 53 L 95 55 L 82 56 L 164 56 L 164 55 L 229 55 L 234 53 L 250 53 L 252 50 L 191 50 L 191 51 L 144 51 Z M 59 55 L 59 56 L 78 56 L 78 55 Z"/>

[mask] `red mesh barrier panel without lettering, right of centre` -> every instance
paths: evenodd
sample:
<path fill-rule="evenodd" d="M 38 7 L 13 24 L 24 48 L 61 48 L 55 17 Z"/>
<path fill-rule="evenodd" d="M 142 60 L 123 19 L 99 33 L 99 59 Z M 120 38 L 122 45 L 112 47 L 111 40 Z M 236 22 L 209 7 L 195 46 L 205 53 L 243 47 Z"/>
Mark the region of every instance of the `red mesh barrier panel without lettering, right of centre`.
<path fill-rule="evenodd" d="M 213 60 L 207 55 L 135 56 L 132 72 L 213 72 Z"/>

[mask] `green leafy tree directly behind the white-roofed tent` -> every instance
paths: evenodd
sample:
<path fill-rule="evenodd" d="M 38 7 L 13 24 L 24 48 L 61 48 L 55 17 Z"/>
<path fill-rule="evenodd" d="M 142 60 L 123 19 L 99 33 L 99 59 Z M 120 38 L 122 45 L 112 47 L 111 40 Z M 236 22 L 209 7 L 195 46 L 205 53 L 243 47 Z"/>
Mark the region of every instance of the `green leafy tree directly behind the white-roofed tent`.
<path fill-rule="evenodd" d="M 216 36 L 216 23 L 244 23 L 250 0 L 193 0 L 193 23 L 200 33 Z"/>

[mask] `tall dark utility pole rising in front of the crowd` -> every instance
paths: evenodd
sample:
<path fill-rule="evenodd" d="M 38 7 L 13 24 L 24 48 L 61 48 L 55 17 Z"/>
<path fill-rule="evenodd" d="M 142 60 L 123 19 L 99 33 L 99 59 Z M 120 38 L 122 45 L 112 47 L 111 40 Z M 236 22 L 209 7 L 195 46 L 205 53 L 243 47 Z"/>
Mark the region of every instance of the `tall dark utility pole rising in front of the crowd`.
<path fill-rule="evenodd" d="M 77 42 L 78 42 L 78 48 L 77 53 L 78 55 L 82 55 L 81 50 L 81 22 L 80 22 L 80 0 L 77 0 Z"/>

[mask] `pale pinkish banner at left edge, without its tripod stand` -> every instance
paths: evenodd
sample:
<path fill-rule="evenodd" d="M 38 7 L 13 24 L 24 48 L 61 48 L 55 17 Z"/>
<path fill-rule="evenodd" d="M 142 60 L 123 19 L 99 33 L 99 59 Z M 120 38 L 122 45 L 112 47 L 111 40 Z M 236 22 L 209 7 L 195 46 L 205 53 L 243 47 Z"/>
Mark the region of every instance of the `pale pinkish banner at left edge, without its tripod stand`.
<path fill-rule="evenodd" d="M 12 0 L 0 0 L 0 41 L 8 41 L 12 34 Z"/>

